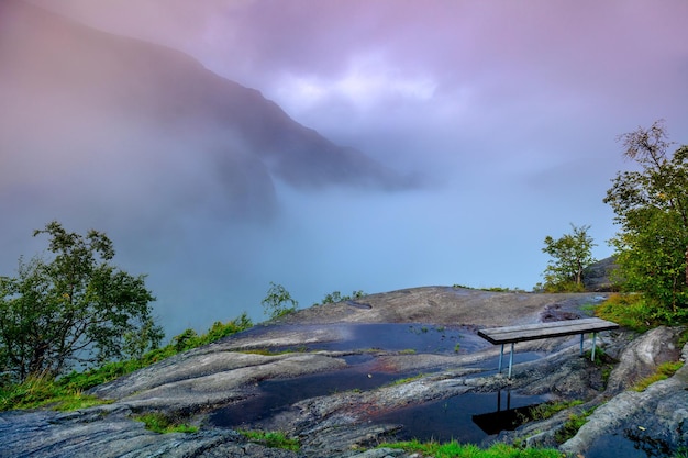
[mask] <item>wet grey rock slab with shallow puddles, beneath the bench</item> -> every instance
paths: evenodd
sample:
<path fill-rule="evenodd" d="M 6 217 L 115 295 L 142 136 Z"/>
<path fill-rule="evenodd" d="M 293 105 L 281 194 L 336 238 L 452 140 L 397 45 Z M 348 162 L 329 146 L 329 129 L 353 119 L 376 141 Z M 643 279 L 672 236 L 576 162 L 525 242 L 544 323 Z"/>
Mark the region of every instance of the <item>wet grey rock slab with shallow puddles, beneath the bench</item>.
<path fill-rule="evenodd" d="M 0 456 L 406 457 L 400 450 L 374 447 L 404 437 L 407 426 L 375 418 L 499 390 L 585 404 L 515 431 L 486 435 L 482 445 L 522 440 L 559 446 L 556 433 L 568 415 L 598 406 L 588 424 L 561 445 L 563 450 L 602 457 L 596 454 L 612 438 L 674 453 L 686 443 L 688 369 L 642 393 L 625 390 L 658 364 L 680 357 L 679 329 L 661 327 L 643 336 L 602 333 L 601 364 L 578 356 L 576 336 L 520 343 L 517 356 L 537 357 L 517 361 L 511 379 L 496 371 L 499 348 L 475 335 L 487 326 L 585 316 L 589 313 L 585 305 L 603 298 L 428 287 L 313 306 L 92 390 L 114 400 L 112 404 L 70 413 L 2 413 Z M 375 339 L 385 333 L 391 333 L 387 339 Z M 429 337 L 436 339 L 436 348 L 403 349 Z M 362 346 L 369 342 L 376 345 Z M 688 347 L 683 358 L 687 356 Z M 611 371 L 608 383 L 604 370 Z M 395 379 L 403 380 L 389 383 Z M 349 388 L 329 389 L 332 380 L 346 381 Z M 270 383 L 279 394 L 291 396 L 279 409 L 269 404 Z M 251 416 L 255 405 L 264 405 L 264 412 Z M 144 412 L 164 413 L 200 428 L 192 434 L 156 434 L 134 420 Z M 241 428 L 285 432 L 300 440 L 301 449 L 253 444 L 235 431 L 238 427 L 222 426 L 219 412 L 241 423 Z"/>

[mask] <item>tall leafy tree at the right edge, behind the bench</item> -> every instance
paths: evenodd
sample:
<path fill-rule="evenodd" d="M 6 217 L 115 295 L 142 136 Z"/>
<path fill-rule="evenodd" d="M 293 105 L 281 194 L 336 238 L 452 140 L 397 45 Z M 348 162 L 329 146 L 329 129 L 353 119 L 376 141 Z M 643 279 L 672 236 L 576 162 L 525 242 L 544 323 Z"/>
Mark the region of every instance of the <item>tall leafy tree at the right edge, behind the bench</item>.
<path fill-rule="evenodd" d="M 604 198 L 621 226 L 610 243 L 622 284 L 676 314 L 688 302 L 688 145 L 668 153 L 663 120 L 619 141 L 639 166 L 619 172 Z"/>

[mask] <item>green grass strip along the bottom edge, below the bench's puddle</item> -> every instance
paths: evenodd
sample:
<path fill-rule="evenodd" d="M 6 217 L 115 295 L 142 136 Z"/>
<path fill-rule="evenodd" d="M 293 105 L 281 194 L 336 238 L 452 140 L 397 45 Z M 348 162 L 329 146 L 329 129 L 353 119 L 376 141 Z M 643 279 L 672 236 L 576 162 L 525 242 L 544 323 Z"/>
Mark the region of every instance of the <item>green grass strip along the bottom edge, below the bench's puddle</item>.
<path fill-rule="evenodd" d="M 399 448 L 410 453 L 434 458 L 561 458 L 562 453 L 553 448 L 518 448 L 506 444 L 496 444 L 484 449 L 476 445 L 410 440 L 381 444 L 379 448 Z"/>

